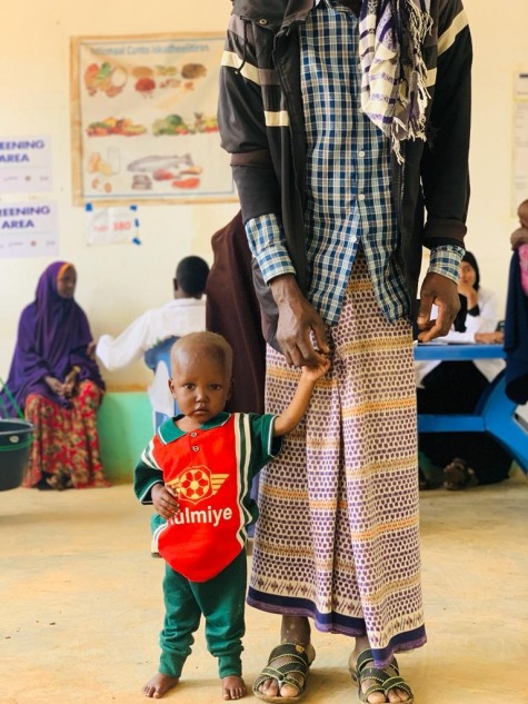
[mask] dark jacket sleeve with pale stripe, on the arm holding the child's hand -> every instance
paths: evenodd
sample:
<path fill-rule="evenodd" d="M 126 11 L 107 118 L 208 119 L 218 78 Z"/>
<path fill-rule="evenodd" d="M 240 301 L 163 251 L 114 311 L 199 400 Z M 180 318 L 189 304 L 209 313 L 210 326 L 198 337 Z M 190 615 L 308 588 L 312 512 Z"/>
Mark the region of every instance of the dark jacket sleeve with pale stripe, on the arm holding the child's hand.
<path fill-rule="evenodd" d="M 231 155 L 245 222 L 275 214 L 280 220 L 280 189 L 267 138 L 262 76 L 250 22 L 232 14 L 220 70 L 218 125 Z"/>

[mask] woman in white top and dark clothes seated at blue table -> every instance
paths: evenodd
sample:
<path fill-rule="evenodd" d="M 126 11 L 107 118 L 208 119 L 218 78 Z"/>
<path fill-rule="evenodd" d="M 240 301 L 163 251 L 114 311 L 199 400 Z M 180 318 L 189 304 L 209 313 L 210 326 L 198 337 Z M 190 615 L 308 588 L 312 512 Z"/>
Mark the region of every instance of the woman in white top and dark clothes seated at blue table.
<path fill-rule="evenodd" d="M 460 313 L 447 343 L 502 343 L 497 297 L 480 287 L 475 256 L 467 251 L 460 265 Z M 471 414 L 502 359 L 416 363 L 419 414 Z M 487 433 L 420 433 L 420 488 L 462 489 L 508 477 L 511 457 Z M 429 464 L 432 463 L 432 464 Z"/>

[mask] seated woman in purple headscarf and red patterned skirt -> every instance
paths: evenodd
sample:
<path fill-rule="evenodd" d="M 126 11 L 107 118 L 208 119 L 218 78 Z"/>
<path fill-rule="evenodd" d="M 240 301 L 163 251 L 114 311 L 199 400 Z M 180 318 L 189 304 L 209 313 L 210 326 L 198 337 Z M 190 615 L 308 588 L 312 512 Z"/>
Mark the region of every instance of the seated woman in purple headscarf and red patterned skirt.
<path fill-rule="evenodd" d="M 73 300 L 76 284 L 71 264 L 51 264 L 20 316 L 7 388 L 34 425 L 26 487 L 108 486 L 97 433 L 104 383 L 88 355 L 92 338 Z M 10 410 L 16 415 L 16 408 Z"/>

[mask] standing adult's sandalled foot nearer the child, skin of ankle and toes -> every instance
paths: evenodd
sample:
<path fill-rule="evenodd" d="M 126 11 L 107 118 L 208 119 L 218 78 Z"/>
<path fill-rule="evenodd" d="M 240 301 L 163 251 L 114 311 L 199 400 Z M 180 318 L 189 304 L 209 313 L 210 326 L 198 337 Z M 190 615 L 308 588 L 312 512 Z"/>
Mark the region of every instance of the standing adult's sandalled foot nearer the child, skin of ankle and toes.
<path fill-rule="evenodd" d="M 316 651 L 310 643 L 310 624 L 308 623 L 308 618 L 302 616 L 282 616 L 280 636 L 281 643 L 295 643 L 302 648 L 308 657 L 308 665 L 311 665 L 316 657 Z M 270 666 L 278 668 L 288 663 L 291 663 L 291 657 L 285 655 L 283 657 L 279 656 L 273 658 Z M 298 697 L 305 687 L 306 677 L 303 677 L 300 672 L 291 672 L 288 676 L 295 680 L 299 686 L 296 687 L 287 683 L 281 685 L 275 677 L 270 677 L 269 680 L 265 680 L 257 687 L 257 692 L 260 692 L 266 697 L 276 697 L 278 701 L 286 697 Z"/>

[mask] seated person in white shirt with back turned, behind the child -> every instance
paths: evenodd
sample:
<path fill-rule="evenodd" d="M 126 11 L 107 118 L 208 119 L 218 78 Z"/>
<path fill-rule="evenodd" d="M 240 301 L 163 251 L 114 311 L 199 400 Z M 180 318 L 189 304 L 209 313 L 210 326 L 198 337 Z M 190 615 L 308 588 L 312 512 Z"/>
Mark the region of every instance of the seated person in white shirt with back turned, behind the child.
<path fill-rule="evenodd" d="M 173 298 L 160 308 L 147 310 L 136 318 L 118 337 L 101 335 L 96 355 L 109 371 L 122 369 L 141 359 L 145 353 L 170 337 L 206 329 L 206 290 L 209 265 L 201 257 L 183 257 L 172 279 Z M 158 365 L 149 386 L 153 425 L 173 415 L 169 391 L 169 373 Z"/>

